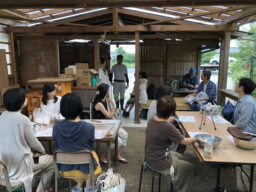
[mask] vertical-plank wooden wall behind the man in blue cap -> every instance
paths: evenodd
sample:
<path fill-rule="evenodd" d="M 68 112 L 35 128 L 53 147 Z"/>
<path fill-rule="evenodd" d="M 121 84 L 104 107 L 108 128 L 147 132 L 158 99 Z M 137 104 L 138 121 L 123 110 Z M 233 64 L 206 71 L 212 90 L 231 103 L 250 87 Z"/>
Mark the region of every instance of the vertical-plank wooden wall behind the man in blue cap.
<path fill-rule="evenodd" d="M 140 71 L 148 74 L 148 83 L 156 87 L 182 78 L 190 68 L 197 69 L 200 76 L 199 52 L 196 45 L 140 45 Z M 198 72 L 199 70 L 199 72 Z"/>

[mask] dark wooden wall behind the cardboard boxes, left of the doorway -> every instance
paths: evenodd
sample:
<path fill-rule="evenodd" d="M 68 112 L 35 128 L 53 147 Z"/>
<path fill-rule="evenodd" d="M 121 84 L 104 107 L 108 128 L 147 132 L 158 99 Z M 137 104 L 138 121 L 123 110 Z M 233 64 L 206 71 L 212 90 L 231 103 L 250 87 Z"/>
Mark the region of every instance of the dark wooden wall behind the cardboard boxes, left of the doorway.
<path fill-rule="evenodd" d="M 99 44 L 99 56 L 105 58 L 106 50 L 109 50 L 109 45 Z M 94 45 L 59 45 L 60 52 L 60 71 L 68 65 L 75 65 L 76 63 L 89 63 L 89 68 L 94 68 Z M 106 58 L 105 58 L 106 59 Z M 98 69 L 96 69 L 98 70 Z"/>

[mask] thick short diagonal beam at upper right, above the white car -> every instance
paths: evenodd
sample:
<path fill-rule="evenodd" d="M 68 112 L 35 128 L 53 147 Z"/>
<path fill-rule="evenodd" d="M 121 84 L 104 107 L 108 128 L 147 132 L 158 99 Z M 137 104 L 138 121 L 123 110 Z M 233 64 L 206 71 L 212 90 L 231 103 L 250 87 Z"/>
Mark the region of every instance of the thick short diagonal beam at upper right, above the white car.
<path fill-rule="evenodd" d="M 242 20 L 244 18 L 252 16 L 255 13 L 256 13 L 256 7 L 249 7 L 249 8 L 244 9 L 243 11 L 237 12 L 236 14 L 231 15 L 231 16 L 227 17 L 226 19 L 223 19 L 223 20 L 215 23 L 215 25 L 232 24 L 239 20 Z"/>

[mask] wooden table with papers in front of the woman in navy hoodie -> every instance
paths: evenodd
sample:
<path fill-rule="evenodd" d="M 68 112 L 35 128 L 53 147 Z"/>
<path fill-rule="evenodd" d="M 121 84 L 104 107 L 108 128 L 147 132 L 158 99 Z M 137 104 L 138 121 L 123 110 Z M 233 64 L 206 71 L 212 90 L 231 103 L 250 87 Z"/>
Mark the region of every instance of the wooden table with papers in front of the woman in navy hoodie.
<path fill-rule="evenodd" d="M 104 120 L 100 120 L 100 121 L 104 121 Z M 111 141 L 115 141 L 115 160 L 116 160 L 116 165 L 117 165 L 117 150 L 118 150 L 118 146 L 117 146 L 117 133 L 118 130 L 121 126 L 122 121 L 121 120 L 116 120 L 116 124 L 94 124 L 94 127 L 96 130 L 103 130 L 105 129 L 106 132 L 104 134 L 104 138 L 103 139 L 95 139 L 96 142 L 100 142 L 100 143 L 107 143 L 107 168 L 111 167 L 111 159 L 110 159 L 110 142 Z M 48 128 L 52 128 L 54 125 L 54 123 L 50 123 L 49 125 L 44 125 L 45 129 Z M 115 130 L 114 134 L 111 136 L 107 136 L 108 131 L 113 128 Z M 37 137 L 37 139 L 39 141 L 47 141 L 48 142 L 48 153 L 51 155 L 52 153 L 52 145 L 51 145 L 51 141 L 52 141 L 52 136 L 51 137 Z"/>

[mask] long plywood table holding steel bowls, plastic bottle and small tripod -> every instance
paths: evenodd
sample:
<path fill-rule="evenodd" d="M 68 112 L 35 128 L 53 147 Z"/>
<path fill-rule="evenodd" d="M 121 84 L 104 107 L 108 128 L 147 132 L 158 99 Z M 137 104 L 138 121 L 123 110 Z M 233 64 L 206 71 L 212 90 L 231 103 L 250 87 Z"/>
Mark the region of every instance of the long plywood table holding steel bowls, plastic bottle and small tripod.
<path fill-rule="evenodd" d="M 228 133 L 227 131 L 227 128 L 234 125 L 229 122 L 224 124 L 215 122 L 217 130 L 214 130 L 213 123 L 210 123 L 206 120 L 205 125 L 202 125 L 202 129 L 199 130 L 203 113 L 194 111 L 176 111 L 175 116 L 176 118 L 179 118 L 179 116 L 194 116 L 197 119 L 198 123 L 180 122 L 180 126 L 187 137 L 190 137 L 190 134 L 188 132 L 207 132 L 222 138 L 222 142 L 220 143 L 220 145 L 217 148 L 213 149 L 213 155 L 211 159 L 207 159 L 204 157 L 204 148 L 201 148 L 197 142 L 192 144 L 193 148 L 195 149 L 196 155 L 201 162 L 218 164 L 216 191 L 219 191 L 220 186 L 220 164 L 250 164 L 251 182 L 249 191 L 252 191 L 253 167 L 256 164 L 256 149 L 245 150 L 242 148 L 238 148 L 230 140 L 228 140 L 228 138 L 225 136 L 230 135 L 230 133 Z"/>

